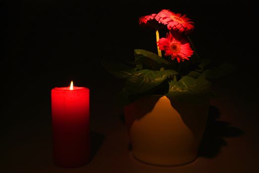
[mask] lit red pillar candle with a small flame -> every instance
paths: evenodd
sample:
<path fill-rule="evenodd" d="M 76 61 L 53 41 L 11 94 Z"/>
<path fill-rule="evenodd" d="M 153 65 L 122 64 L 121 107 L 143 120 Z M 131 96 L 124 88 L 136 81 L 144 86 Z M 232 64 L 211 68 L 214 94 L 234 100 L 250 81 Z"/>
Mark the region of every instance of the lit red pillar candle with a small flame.
<path fill-rule="evenodd" d="M 59 167 L 80 167 L 90 161 L 89 89 L 52 89 L 53 162 Z"/>

